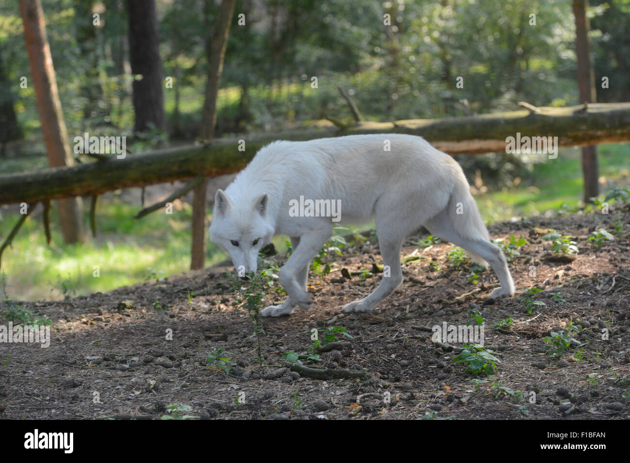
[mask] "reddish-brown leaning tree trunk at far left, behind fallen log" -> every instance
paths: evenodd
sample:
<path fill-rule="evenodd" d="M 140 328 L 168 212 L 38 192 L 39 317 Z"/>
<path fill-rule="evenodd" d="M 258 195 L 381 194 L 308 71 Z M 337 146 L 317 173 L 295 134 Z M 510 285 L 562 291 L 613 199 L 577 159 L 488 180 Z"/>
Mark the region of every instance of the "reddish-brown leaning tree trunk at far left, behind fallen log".
<path fill-rule="evenodd" d="M 37 95 L 37 108 L 50 166 L 72 166 L 66 122 L 59 101 L 40 0 L 20 0 L 20 13 L 24 22 L 31 79 Z M 64 198 L 57 203 L 64 241 L 66 243 L 85 241 L 81 198 Z"/>

